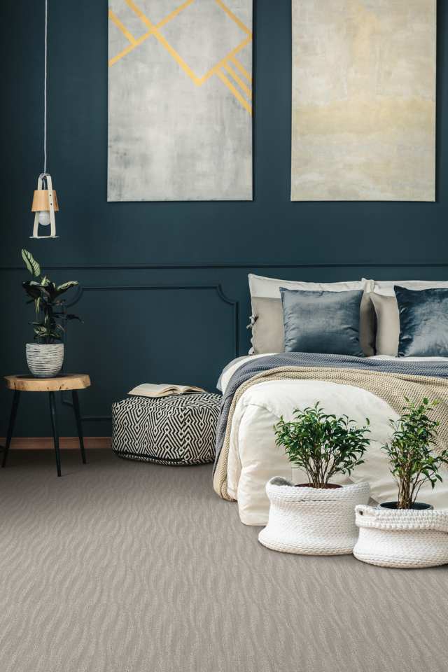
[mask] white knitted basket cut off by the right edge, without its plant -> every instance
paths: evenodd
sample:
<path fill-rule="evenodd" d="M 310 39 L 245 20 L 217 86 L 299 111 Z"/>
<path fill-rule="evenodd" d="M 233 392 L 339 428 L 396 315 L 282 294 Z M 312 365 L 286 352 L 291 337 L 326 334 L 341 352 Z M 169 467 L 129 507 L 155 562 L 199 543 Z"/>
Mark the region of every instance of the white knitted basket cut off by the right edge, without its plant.
<path fill-rule="evenodd" d="M 353 555 L 381 567 L 433 567 L 448 562 L 448 509 L 356 507 Z"/>

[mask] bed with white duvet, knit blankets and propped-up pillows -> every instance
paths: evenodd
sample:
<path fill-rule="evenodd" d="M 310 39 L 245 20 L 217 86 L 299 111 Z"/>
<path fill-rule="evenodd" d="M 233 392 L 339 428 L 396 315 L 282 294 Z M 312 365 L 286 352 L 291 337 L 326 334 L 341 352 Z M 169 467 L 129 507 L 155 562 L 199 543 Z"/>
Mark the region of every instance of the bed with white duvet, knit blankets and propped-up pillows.
<path fill-rule="evenodd" d="M 433 301 L 433 312 L 434 306 L 438 310 L 441 302 L 448 301 L 448 283 L 376 283 L 363 279 L 357 283 L 311 284 L 249 276 L 249 286 L 253 307 L 253 348 L 250 355 L 232 360 L 218 381 L 223 402 L 214 465 L 215 491 L 224 499 L 237 501 L 241 522 L 265 525 L 269 510 L 265 494 L 267 480 L 283 476 L 296 483 L 304 482 L 304 475 L 292 468 L 282 449 L 276 446 L 274 424 L 280 416 L 287 421 L 293 419 L 296 408 L 304 409 L 320 402 L 325 412 L 346 414 L 360 425 L 366 418 L 370 420 L 370 447 L 365 463 L 359 465 L 350 478 L 337 477 L 334 482 L 367 480 L 371 485 L 372 500 L 396 498 L 396 485 L 381 445 L 390 440 L 390 421 L 398 419 L 406 396 L 415 401 L 425 396 L 440 400 L 436 409 L 440 419 L 436 449 L 448 445 L 448 356 L 439 356 L 440 352 L 443 355 L 448 352 L 444 335 L 448 334 L 445 317 L 448 303 L 443 304 L 440 316 L 432 322 L 431 329 L 433 332 L 438 330 L 438 335 L 423 333 L 420 344 L 418 334 L 411 334 L 412 337 L 407 339 L 407 334 L 412 329 L 415 331 L 415 323 L 417 330 L 419 325 L 426 325 L 428 330 L 430 301 Z M 399 291 L 404 294 L 398 295 Z M 341 297 L 362 295 L 356 339 L 363 350 L 359 353 L 361 356 L 332 354 L 328 349 L 317 353 L 309 349 L 300 351 L 294 344 L 287 347 L 291 329 L 286 323 L 285 292 L 288 300 L 293 301 L 297 300 L 296 295 L 301 302 L 303 296 L 309 295 L 314 301 L 311 303 L 313 307 L 321 305 L 322 297 L 325 300 L 330 297 L 330 302 L 339 302 L 337 310 L 332 312 L 336 318 L 341 313 Z M 417 301 L 419 305 L 409 308 L 405 305 L 409 300 Z M 328 305 L 331 310 L 331 303 Z M 357 306 L 358 310 L 359 302 Z M 368 314 L 369 306 L 370 309 L 374 306 L 374 321 Z M 303 306 L 299 304 L 299 308 Z M 418 317 L 422 309 L 426 312 Z M 293 318 L 295 311 L 293 306 L 290 311 Z M 412 322 L 405 325 L 409 315 L 414 319 L 414 325 Z M 351 319 L 353 321 L 353 316 Z M 302 312 L 298 331 L 303 331 L 304 324 Z M 297 327 L 293 325 L 294 334 L 297 336 Z M 300 338 L 302 333 L 299 344 L 303 342 Z M 430 350 L 431 341 L 433 351 Z M 269 342 L 277 345 L 270 352 L 266 351 Z M 430 356 L 412 356 L 412 348 L 418 346 L 421 349 L 422 342 Z M 443 483 L 434 490 L 430 485 L 424 486 L 419 499 L 435 507 L 448 507 L 448 472 L 442 470 L 442 475 Z"/>

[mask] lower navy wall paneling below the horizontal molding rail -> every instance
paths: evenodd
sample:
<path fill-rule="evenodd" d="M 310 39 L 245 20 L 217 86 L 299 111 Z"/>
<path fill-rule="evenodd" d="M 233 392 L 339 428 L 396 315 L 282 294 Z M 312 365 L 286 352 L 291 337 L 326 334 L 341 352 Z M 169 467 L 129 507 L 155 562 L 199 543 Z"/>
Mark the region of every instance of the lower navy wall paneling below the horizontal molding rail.
<path fill-rule="evenodd" d="M 448 262 L 398 260 L 45 265 L 45 271 L 58 276 L 58 280 L 71 279 L 73 273 L 80 282 L 68 306 L 83 318 L 84 324 L 69 325 L 66 370 L 83 369 L 92 375 L 92 388 L 80 398 L 85 433 L 92 435 L 109 432 L 111 402 L 123 398 L 139 382 L 186 382 L 214 389 L 222 367 L 246 353 L 250 346 L 250 332 L 246 329 L 251 311 L 248 272 L 305 281 L 361 276 L 404 280 L 447 279 L 447 269 Z M 17 306 L 15 320 L 22 325 L 20 339 L 14 333 L 4 334 L 3 372 L 24 372 L 25 342 L 30 339 L 27 322 L 32 317 L 29 306 L 21 302 L 24 269 L 19 265 L 4 266 L 1 272 L 6 295 Z M 124 337 L 121 334 L 127 325 L 136 333 L 135 343 L 126 333 Z M 167 342 L 163 334 L 166 328 Z M 179 339 L 170 336 L 172 330 L 179 331 Z M 115 377 L 111 374 L 114 369 Z M 0 389 L 0 399 L 8 409 L 8 391 Z M 35 402 L 29 403 L 29 422 L 24 416 L 21 420 L 19 414 L 18 435 L 48 434 L 47 404 L 42 400 L 41 409 L 35 406 Z M 69 406 L 69 399 L 62 398 L 64 435 L 73 431 Z"/>

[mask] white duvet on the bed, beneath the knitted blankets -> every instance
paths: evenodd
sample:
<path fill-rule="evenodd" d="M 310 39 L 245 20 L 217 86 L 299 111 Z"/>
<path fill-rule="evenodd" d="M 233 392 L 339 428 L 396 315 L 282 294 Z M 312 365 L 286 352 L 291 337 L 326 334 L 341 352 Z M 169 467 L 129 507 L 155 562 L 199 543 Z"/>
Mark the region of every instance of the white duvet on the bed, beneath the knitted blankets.
<path fill-rule="evenodd" d="M 225 392 L 239 366 L 248 359 L 264 356 L 252 355 L 230 363 L 221 374 L 222 391 Z M 374 358 L 394 359 L 389 356 Z M 228 492 L 237 500 L 239 517 L 244 524 L 267 523 L 269 502 L 265 484 L 269 478 L 284 476 L 296 483 L 304 482 L 304 475 L 291 468 L 283 450 L 276 446 L 273 426 L 281 415 L 290 420 L 294 409 L 312 406 L 317 401 L 328 413 L 346 414 L 360 424 L 365 423 L 366 417 L 370 420 L 370 447 L 365 454 L 365 463 L 353 471 L 351 479 L 339 477 L 333 479 L 334 482 L 367 480 L 374 500 L 396 499 L 396 485 L 388 470 L 386 454 L 380 446 L 391 437 L 389 419 L 397 419 L 398 415 L 384 400 L 361 388 L 325 381 L 264 381 L 246 390 L 232 419 Z M 448 475 L 435 490 L 430 485 L 422 488 L 419 500 L 436 507 L 448 507 Z"/>

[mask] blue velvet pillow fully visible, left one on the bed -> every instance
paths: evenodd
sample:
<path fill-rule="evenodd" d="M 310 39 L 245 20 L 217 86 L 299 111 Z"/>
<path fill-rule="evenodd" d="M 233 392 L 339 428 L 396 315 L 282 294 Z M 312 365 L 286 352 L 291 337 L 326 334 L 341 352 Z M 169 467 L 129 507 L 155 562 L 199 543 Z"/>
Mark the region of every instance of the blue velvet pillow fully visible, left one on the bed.
<path fill-rule="evenodd" d="M 359 342 L 363 290 L 311 292 L 280 288 L 285 352 L 364 357 Z"/>

